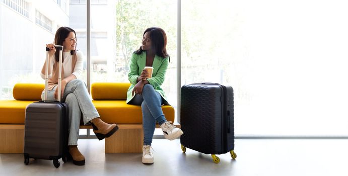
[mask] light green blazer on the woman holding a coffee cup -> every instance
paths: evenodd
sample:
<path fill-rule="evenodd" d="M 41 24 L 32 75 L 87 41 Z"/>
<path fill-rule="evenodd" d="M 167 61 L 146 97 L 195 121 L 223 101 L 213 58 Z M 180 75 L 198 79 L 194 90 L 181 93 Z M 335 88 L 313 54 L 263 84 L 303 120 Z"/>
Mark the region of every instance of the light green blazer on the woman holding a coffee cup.
<path fill-rule="evenodd" d="M 155 55 L 154 62 L 152 64 L 152 67 L 154 67 L 154 70 L 152 71 L 152 77 L 148 78 L 149 83 L 154 86 L 154 89 L 156 92 L 160 93 L 162 98 L 165 100 L 164 104 L 168 104 L 167 97 L 164 93 L 164 91 L 161 88 L 162 83 L 164 82 L 167 67 L 169 63 L 169 57 L 162 58 L 158 55 Z M 144 67 L 146 64 L 146 52 L 143 51 L 142 54 L 135 54 L 133 53 L 130 58 L 129 63 L 129 73 L 128 73 L 128 80 L 130 82 L 129 89 L 127 91 L 127 103 L 135 96 L 132 96 L 132 90 L 133 87 L 136 84 L 136 79 L 140 74 L 142 73 Z"/>

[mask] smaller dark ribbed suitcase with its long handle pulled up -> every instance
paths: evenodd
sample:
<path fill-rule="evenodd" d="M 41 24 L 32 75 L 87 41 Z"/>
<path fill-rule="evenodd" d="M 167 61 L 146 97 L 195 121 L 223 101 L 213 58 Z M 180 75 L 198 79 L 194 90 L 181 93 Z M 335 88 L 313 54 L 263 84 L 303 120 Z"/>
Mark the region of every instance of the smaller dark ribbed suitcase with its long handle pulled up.
<path fill-rule="evenodd" d="M 59 50 L 59 66 L 61 68 L 62 47 Z M 46 48 L 47 58 L 49 49 Z M 48 59 L 46 58 L 46 63 Z M 48 64 L 46 64 L 48 70 Z M 60 74 L 59 74 L 60 75 Z M 45 77 L 47 87 L 47 71 Z M 58 90 L 61 89 L 61 77 L 58 76 Z M 59 91 L 60 92 L 60 91 Z M 47 100 L 47 89 L 45 98 Z M 24 125 L 24 163 L 29 164 L 29 158 L 53 160 L 56 168 L 60 163 L 58 159 L 67 160 L 67 138 L 68 138 L 68 107 L 65 103 L 58 101 L 39 101 L 27 106 L 25 111 Z"/>

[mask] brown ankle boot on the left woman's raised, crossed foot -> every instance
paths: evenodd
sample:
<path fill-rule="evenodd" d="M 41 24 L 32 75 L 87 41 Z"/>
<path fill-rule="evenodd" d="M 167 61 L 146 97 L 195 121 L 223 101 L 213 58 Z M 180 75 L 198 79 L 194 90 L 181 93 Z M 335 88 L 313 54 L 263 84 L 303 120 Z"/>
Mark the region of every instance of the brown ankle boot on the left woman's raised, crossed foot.
<path fill-rule="evenodd" d="M 96 134 L 99 140 L 102 140 L 105 137 L 110 137 L 118 130 L 116 124 L 107 124 L 103 122 L 100 118 L 92 119 L 90 122 L 92 123 L 93 132 L 94 134 Z"/>

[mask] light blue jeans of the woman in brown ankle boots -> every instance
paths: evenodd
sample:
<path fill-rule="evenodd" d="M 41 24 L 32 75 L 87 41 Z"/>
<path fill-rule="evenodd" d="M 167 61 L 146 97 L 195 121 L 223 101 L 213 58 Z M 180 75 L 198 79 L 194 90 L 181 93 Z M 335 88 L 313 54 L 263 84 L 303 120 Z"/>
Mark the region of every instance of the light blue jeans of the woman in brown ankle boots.
<path fill-rule="evenodd" d="M 58 88 L 56 85 L 51 91 L 47 92 L 48 101 L 57 101 L 54 98 L 54 92 Z M 44 98 L 44 91 L 41 99 Z M 69 81 L 65 85 L 62 101 L 69 109 L 69 138 L 67 145 L 78 145 L 81 113 L 84 124 L 88 124 L 94 118 L 99 117 L 97 109 L 94 107 L 88 94 L 86 84 L 80 79 Z"/>

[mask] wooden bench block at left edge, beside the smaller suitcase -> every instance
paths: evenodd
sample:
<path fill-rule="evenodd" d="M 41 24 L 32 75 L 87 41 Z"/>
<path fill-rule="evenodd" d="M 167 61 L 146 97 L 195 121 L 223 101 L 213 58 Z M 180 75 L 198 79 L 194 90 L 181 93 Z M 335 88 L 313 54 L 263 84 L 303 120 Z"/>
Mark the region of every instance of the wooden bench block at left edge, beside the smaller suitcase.
<path fill-rule="evenodd" d="M 0 153 L 23 153 L 24 125 L 0 125 Z"/>

